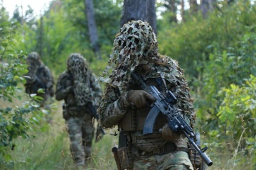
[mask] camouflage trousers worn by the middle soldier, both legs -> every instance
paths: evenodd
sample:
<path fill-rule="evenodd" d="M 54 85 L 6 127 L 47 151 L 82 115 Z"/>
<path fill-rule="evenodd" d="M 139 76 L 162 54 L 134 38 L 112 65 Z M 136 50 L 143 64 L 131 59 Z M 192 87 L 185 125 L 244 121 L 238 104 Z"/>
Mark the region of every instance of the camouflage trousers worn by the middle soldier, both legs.
<path fill-rule="evenodd" d="M 87 113 L 83 117 L 71 116 L 66 123 L 73 160 L 77 165 L 84 165 L 85 159 L 91 157 L 92 138 L 95 130 L 92 115 Z"/>

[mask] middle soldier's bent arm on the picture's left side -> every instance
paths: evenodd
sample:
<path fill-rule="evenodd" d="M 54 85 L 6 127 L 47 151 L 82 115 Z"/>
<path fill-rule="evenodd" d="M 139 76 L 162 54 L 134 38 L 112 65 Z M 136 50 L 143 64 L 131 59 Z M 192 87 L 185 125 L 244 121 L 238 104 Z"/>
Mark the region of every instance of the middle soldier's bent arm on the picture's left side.
<path fill-rule="evenodd" d="M 65 99 L 68 93 L 72 91 L 73 87 L 71 85 L 65 86 L 65 84 L 68 84 L 67 81 L 70 81 L 70 80 L 68 80 L 68 74 L 64 72 L 63 74 L 60 75 L 56 84 L 56 91 L 55 91 L 56 100 L 61 101 Z"/>

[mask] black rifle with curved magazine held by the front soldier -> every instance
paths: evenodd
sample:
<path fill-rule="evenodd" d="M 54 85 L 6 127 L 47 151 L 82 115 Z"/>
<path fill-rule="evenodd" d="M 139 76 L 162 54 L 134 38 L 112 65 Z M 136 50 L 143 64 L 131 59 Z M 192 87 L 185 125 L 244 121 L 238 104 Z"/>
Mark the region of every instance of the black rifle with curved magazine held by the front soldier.
<path fill-rule="evenodd" d="M 208 166 L 211 166 L 213 162 L 204 153 L 206 149 L 208 149 L 208 147 L 199 149 L 199 147 L 193 141 L 195 138 L 195 133 L 193 132 L 192 128 L 181 117 L 176 108 L 174 108 L 173 105 L 177 103 L 177 98 L 174 96 L 174 94 L 172 94 L 171 91 L 166 91 L 165 96 L 164 94 L 159 92 L 155 86 L 147 86 L 144 83 L 143 79 L 134 72 L 131 73 L 131 77 L 137 84 L 139 84 L 139 86 L 141 86 L 144 91 L 156 98 L 156 101 L 151 104 L 151 110 L 146 117 L 143 128 L 143 135 L 151 135 L 153 133 L 154 123 L 157 116 L 161 112 L 166 117 L 171 130 L 173 130 L 174 132 L 183 133 L 188 138 L 188 141 L 191 143 L 196 152 L 198 152 L 203 161 L 206 162 Z"/>

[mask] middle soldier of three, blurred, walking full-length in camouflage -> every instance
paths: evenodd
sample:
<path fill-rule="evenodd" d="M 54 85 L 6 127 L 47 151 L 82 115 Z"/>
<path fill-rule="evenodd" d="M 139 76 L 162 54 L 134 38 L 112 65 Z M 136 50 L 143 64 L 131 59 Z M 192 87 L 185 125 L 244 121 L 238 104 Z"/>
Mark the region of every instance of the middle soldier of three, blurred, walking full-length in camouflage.
<path fill-rule="evenodd" d="M 68 57 L 67 70 L 58 78 L 55 98 L 65 101 L 63 118 L 68 125 L 70 150 L 77 165 L 85 165 L 85 160 L 91 157 L 95 131 L 93 116 L 101 96 L 100 84 L 96 84 L 95 74 L 85 58 L 78 53 L 71 54 Z"/>

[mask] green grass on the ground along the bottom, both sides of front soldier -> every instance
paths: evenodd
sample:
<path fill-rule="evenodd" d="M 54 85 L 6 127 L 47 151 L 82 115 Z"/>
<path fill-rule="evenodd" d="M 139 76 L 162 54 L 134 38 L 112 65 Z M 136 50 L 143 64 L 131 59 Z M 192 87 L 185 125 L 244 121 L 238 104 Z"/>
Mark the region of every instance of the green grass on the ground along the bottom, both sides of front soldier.
<path fill-rule="evenodd" d="M 29 139 L 18 137 L 14 141 L 16 143 L 14 150 L 6 148 L 6 152 L 11 153 L 13 161 L 0 169 L 77 169 L 70 156 L 70 140 L 65 120 L 62 118 L 61 103 L 57 103 L 57 106 L 58 108 L 50 113 L 53 116 L 51 123 L 45 122 L 40 125 L 40 128 L 46 126 L 46 131 L 39 131 L 38 127 L 38 131 L 29 132 Z M 106 135 L 97 143 L 95 139 L 93 140 L 92 161 L 88 162 L 84 169 L 117 169 L 111 148 L 117 145 L 118 137 L 110 135 L 111 132 L 114 130 L 106 130 Z M 225 145 L 208 145 L 207 154 L 213 161 L 213 165 L 208 169 L 255 170 L 255 162 L 252 161 L 255 155 L 245 154 L 238 144 L 233 145 L 238 147 L 238 152 L 230 152 Z"/>

